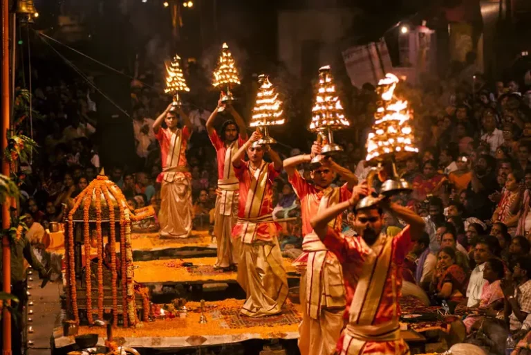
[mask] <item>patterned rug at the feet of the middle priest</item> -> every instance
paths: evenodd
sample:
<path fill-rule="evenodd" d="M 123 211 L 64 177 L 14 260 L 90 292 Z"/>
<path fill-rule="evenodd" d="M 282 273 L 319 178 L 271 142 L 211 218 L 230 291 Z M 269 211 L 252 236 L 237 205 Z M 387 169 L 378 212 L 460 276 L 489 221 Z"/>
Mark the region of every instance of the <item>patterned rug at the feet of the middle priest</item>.
<path fill-rule="evenodd" d="M 249 328 L 249 327 L 278 327 L 281 325 L 297 325 L 301 322 L 300 313 L 293 307 L 293 304 L 286 303 L 282 308 L 282 313 L 268 317 L 246 317 L 240 314 L 239 307 L 220 309 L 223 320 L 229 328 Z"/>

